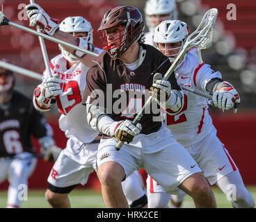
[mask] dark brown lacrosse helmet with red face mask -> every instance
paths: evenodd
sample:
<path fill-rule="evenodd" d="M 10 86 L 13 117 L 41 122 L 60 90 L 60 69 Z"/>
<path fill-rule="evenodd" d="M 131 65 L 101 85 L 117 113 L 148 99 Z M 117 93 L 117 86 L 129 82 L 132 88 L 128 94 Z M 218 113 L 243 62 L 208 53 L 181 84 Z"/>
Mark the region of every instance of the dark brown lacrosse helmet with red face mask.
<path fill-rule="evenodd" d="M 115 33 L 107 33 L 107 28 L 119 28 L 119 35 L 115 39 L 111 40 L 111 35 Z M 121 34 L 121 30 L 125 29 Z M 100 38 L 104 44 L 104 48 L 109 53 L 111 58 L 120 58 L 129 46 L 140 40 L 144 35 L 145 23 L 143 16 L 138 8 L 131 6 L 119 6 L 109 10 L 105 13 L 102 23 L 97 31 L 99 31 Z M 111 42 L 115 42 L 119 39 L 120 44 L 113 46 Z"/>

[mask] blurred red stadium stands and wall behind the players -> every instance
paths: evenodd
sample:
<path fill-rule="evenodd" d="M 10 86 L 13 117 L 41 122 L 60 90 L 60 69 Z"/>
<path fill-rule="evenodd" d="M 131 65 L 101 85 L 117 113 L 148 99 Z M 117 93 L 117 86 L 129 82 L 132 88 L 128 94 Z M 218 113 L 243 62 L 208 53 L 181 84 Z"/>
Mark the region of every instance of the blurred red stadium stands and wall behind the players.
<path fill-rule="evenodd" d="M 106 1 L 106 0 L 38 0 L 36 1 L 46 12 L 55 17 L 56 19 L 62 20 L 67 16 L 77 16 L 81 15 L 86 17 L 88 21 L 91 22 L 94 29 L 94 44 L 95 46 L 101 47 L 102 44 L 97 35 L 97 28 L 99 22 L 104 15 L 104 12 L 109 8 L 113 8 L 117 5 L 139 5 L 139 9 L 143 12 L 143 6 L 145 1 Z M 61 3 L 60 3 L 61 2 Z M 226 0 L 221 1 L 200 1 L 204 6 L 216 7 L 220 13 L 220 19 L 225 21 L 225 28 L 228 31 L 234 31 L 234 37 L 236 38 L 236 44 L 243 46 L 247 51 L 249 49 L 255 48 L 255 30 L 252 32 L 253 35 L 248 35 L 249 39 L 246 40 L 246 32 L 248 32 L 248 23 L 246 22 L 246 11 L 250 9 L 251 12 L 256 10 L 255 0 L 245 0 L 245 1 L 232 1 L 234 3 L 240 4 L 241 10 L 238 11 L 240 20 L 237 22 L 240 23 L 230 23 L 225 21 L 225 13 L 227 3 Z M 17 15 L 24 16 L 21 14 L 22 7 L 28 4 L 27 1 L 18 1 L 18 0 L 0 0 L 0 6 L 3 4 L 3 12 L 6 17 L 13 22 L 22 24 L 29 27 L 28 20 L 21 21 Z M 18 8 L 20 7 L 20 8 Z M 252 18 L 254 19 L 252 22 Z M 250 24 L 255 26 L 256 17 L 248 18 Z M 242 23 L 241 23 L 242 22 Z M 243 25 L 244 24 L 244 25 Z M 237 29 L 237 27 L 240 27 Z M 241 37 L 243 36 L 243 37 Z M 243 40 L 243 41 L 242 41 Z M 47 44 L 47 51 L 49 53 L 49 58 L 53 58 L 60 51 L 58 51 L 58 46 L 53 42 L 45 41 Z M 211 49 L 210 49 L 211 50 Z M 42 73 L 45 69 L 44 62 L 42 60 L 42 53 L 40 51 L 40 46 L 38 43 L 38 37 L 35 37 L 31 34 L 24 33 L 15 28 L 10 28 L 9 26 L 4 26 L 0 28 L 0 58 L 8 58 L 13 64 L 19 65 L 26 69 L 31 69 Z M 220 70 L 221 71 L 221 70 Z M 232 81 L 232 80 L 231 80 Z M 233 83 L 233 82 L 232 82 Z M 30 78 L 25 78 L 23 76 L 17 76 L 17 87 L 22 89 L 24 93 L 32 95 L 33 88 L 37 85 L 38 82 L 31 80 Z M 23 85 L 23 86 L 22 86 Z M 25 85 L 25 87 L 24 87 Z M 237 85 L 236 85 L 237 86 Z M 241 95 L 243 101 L 246 100 L 246 97 Z M 248 101 L 248 99 L 247 99 Z M 255 104 L 254 104 L 255 105 Z M 65 143 L 67 139 L 61 130 L 58 128 L 58 114 L 57 112 L 51 112 L 47 114 L 47 120 L 54 129 L 54 139 L 56 139 L 56 144 L 61 148 L 65 148 Z M 255 146 L 255 137 L 256 137 L 256 112 L 254 108 L 241 108 L 237 114 L 233 114 L 232 111 L 223 113 L 222 111 L 214 111 L 211 113 L 213 118 L 214 125 L 218 130 L 218 137 L 221 139 L 225 147 L 232 156 L 234 162 L 239 167 L 241 176 L 246 185 L 256 185 L 256 176 L 255 176 L 255 157 L 256 157 L 256 146 Z M 35 142 L 35 148 L 39 151 L 38 142 L 33 139 Z M 47 187 L 47 177 L 51 170 L 53 163 L 45 162 L 43 160 L 38 160 L 37 167 L 33 172 L 31 178 L 29 178 L 29 188 L 30 189 L 46 189 Z M 141 171 L 143 178 L 145 179 L 145 172 Z M 0 185 L 0 189 L 6 189 L 8 187 L 8 182 L 3 182 Z M 81 188 L 82 186 L 79 186 Z M 99 181 L 97 179 L 96 173 L 92 173 L 88 180 L 88 184 L 84 187 L 90 187 L 95 189 L 100 189 Z"/>

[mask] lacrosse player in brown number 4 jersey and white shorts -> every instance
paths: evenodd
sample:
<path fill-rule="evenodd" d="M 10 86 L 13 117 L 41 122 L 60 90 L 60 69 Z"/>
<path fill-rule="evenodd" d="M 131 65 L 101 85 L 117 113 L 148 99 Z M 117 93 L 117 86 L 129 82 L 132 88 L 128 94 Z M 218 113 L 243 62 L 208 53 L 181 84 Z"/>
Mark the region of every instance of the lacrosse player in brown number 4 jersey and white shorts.
<path fill-rule="evenodd" d="M 106 51 L 88 70 L 83 103 L 88 123 L 102 134 L 97 173 L 104 202 L 107 207 L 128 207 L 121 182 L 144 168 L 167 192 L 175 193 L 179 187 L 193 198 L 196 207 L 216 207 L 198 164 L 177 144 L 161 118 L 154 118 L 160 116 L 160 109 L 157 113 L 153 108 L 157 103 L 172 114 L 179 112 L 183 93 L 174 75 L 161 80 L 157 74 L 166 74 L 170 61 L 141 42 L 143 30 L 137 8 L 120 6 L 106 12 L 98 29 Z M 154 104 L 134 126 L 131 120 L 149 94 L 154 96 Z M 126 142 L 120 151 L 115 150 L 117 140 Z"/>

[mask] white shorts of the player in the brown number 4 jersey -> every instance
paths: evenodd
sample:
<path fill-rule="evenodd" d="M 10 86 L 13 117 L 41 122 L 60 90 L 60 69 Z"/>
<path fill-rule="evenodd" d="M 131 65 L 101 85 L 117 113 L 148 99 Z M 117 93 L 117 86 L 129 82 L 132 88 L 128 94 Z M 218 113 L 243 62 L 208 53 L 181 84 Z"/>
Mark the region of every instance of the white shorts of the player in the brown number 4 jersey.
<path fill-rule="evenodd" d="M 179 186 L 193 173 L 201 172 L 191 155 L 178 144 L 166 126 L 150 135 L 140 134 L 133 142 L 115 150 L 115 139 L 101 139 L 97 166 L 104 162 L 118 162 L 129 176 L 137 169 L 147 173 L 162 185 L 166 192 L 176 194 Z"/>

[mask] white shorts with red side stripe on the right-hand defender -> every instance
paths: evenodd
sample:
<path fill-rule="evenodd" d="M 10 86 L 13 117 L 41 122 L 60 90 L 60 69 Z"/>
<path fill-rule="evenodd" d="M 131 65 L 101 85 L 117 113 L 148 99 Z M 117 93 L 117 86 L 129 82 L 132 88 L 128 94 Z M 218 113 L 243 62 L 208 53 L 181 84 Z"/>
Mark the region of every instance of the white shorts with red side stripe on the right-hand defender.
<path fill-rule="evenodd" d="M 234 160 L 218 139 L 215 128 L 200 142 L 185 148 L 198 163 L 210 185 L 216 184 L 218 180 L 232 171 L 238 171 Z M 164 189 L 149 177 L 147 178 L 147 190 L 151 193 L 164 192 Z"/>

